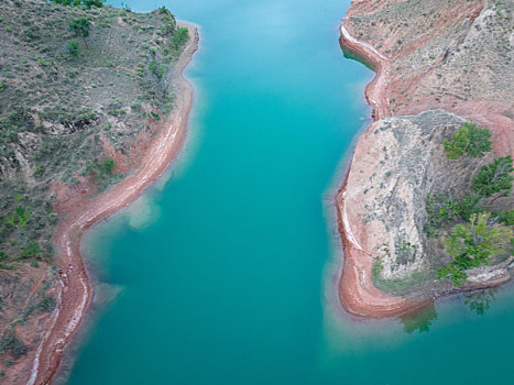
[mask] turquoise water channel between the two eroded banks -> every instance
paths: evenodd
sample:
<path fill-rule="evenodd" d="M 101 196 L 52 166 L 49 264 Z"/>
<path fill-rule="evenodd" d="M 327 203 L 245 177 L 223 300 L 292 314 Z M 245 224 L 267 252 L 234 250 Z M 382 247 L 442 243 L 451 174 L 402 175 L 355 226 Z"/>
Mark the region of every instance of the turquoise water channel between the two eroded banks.
<path fill-rule="evenodd" d="M 111 300 L 68 384 L 513 383 L 512 289 L 483 316 L 445 300 L 419 328 L 337 305 L 332 196 L 372 77 L 338 45 L 349 1 L 164 4 L 201 25 L 189 138 L 167 178 L 86 240 Z"/>

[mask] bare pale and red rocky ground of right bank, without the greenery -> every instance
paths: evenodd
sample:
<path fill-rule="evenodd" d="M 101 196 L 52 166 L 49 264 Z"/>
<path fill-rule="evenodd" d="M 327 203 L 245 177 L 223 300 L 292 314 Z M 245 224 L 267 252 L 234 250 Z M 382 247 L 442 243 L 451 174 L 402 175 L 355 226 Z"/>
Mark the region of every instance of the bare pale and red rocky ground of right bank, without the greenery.
<path fill-rule="evenodd" d="M 385 277 L 407 279 L 411 273 L 426 271 L 427 253 L 438 253 L 419 222 L 426 216 L 426 195 L 440 188 L 434 180 L 449 177 L 442 173 L 438 141 L 461 124 L 459 117 L 492 131 L 496 156 L 513 154 L 513 44 L 507 47 L 501 37 L 511 31 L 512 16 L 494 16 L 511 14 L 512 8 L 479 0 L 352 1 L 342 20 L 341 47 L 376 76 L 365 89 L 375 123 L 360 138 L 337 196 L 345 248 L 339 294 L 349 312 L 394 316 L 455 290 L 427 283 L 407 296 L 385 293 L 374 285 L 373 266 L 381 261 Z M 398 118 L 383 119 L 387 117 Z M 460 173 L 480 165 L 468 164 Z M 460 177 L 452 176 L 445 187 L 463 188 Z M 406 266 L 394 262 L 398 237 L 418 244 Z M 474 273 L 468 288 L 511 277 L 506 265 Z"/>

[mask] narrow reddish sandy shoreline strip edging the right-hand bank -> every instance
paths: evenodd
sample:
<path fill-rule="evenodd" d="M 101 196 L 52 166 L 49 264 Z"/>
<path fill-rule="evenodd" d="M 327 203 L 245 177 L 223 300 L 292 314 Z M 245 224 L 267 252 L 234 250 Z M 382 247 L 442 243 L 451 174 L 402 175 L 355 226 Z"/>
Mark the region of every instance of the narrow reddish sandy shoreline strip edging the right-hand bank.
<path fill-rule="evenodd" d="M 343 19 L 341 24 L 340 44 L 342 50 L 371 65 L 376 73 L 376 76 L 365 88 L 365 98 L 372 108 L 372 119 L 373 121 L 378 121 L 381 118 L 391 117 L 391 110 L 384 92 L 387 80 L 385 68 L 389 65 L 389 59 L 371 45 L 354 38 L 345 25 L 347 20 Z M 363 135 L 368 135 L 372 131 L 372 127 L 373 124 L 368 128 Z M 351 166 L 350 164 L 345 184 L 336 197 L 338 229 L 345 250 L 343 272 L 339 282 L 339 300 L 348 312 L 362 317 L 391 317 L 414 310 L 427 304 L 429 299 L 408 301 L 402 297 L 391 296 L 381 292 L 373 285 L 373 256 L 360 246 L 351 231 L 348 218 L 346 218 L 345 194 Z"/>

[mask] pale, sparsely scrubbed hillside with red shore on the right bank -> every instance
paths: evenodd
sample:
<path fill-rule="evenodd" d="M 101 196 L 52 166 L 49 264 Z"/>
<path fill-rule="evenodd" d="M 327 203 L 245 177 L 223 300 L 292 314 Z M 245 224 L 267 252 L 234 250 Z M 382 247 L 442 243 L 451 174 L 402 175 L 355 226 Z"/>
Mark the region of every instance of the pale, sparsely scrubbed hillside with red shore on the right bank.
<path fill-rule="evenodd" d="M 512 160 L 502 161 L 510 180 L 502 190 L 484 194 L 477 178 L 513 155 L 513 11 L 507 1 L 352 2 L 341 46 L 378 75 L 367 88 L 375 122 L 359 140 L 338 196 L 340 296 L 350 311 L 395 315 L 511 279 L 506 244 L 495 244 L 501 250 L 479 265 L 477 250 L 450 255 L 449 240 L 473 215 L 486 213 L 488 231 L 512 241 Z M 492 151 L 449 157 L 445 143 L 468 123 L 491 133 Z M 469 242 L 482 248 L 482 241 Z M 441 277 L 455 261 L 466 267 Z"/>

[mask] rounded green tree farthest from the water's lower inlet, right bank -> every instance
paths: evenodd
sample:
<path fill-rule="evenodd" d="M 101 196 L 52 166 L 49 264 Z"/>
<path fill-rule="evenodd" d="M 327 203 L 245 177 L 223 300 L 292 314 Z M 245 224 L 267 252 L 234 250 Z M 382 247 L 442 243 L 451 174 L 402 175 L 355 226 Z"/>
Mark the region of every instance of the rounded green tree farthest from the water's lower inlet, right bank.
<path fill-rule="evenodd" d="M 445 141 L 444 145 L 450 160 L 459 158 L 464 152 L 471 157 L 482 157 L 492 148 L 491 131 L 464 123 L 453 134 L 451 142 Z"/>

